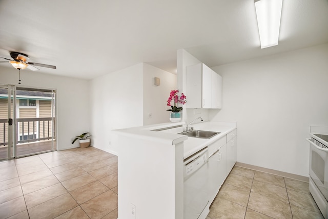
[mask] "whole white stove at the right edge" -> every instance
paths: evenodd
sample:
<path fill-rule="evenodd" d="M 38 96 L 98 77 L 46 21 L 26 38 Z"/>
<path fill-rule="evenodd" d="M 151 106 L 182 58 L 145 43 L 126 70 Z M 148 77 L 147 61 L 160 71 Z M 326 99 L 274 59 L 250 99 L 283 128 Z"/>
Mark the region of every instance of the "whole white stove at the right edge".
<path fill-rule="evenodd" d="M 328 219 L 328 127 L 310 127 L 309 190 L 323 217 Z"/>

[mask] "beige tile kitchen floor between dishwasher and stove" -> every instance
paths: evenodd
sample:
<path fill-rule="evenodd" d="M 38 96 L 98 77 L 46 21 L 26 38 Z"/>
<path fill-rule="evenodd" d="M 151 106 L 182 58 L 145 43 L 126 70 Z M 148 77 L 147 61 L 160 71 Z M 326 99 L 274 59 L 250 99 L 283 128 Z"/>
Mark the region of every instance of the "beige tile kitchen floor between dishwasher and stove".
<path fill-rule="evenodd" d="M 235 166 L 216 196 L 208 219 L 323 218 L 309 184 Z"/>

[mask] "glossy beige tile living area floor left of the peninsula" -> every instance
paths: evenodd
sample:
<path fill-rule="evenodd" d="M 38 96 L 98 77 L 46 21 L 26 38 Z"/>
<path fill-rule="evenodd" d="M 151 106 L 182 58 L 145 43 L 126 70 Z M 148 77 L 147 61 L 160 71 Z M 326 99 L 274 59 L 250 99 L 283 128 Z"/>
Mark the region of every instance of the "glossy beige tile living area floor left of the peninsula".
<path fill-rule="evenodd" d="M 93 147 L 0 162 L 0 218 L 117 218 L 117 156 Z"/>

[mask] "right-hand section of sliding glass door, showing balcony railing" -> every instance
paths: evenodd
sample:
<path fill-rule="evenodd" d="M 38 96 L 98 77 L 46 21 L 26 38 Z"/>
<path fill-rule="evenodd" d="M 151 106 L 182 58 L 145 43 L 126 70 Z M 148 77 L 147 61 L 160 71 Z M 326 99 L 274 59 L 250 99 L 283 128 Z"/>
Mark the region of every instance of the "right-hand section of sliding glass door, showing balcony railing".
<path fill-rule="evenodd" d="M 16 87 L 16 157 L 57 149 L 54 90 Z"/>

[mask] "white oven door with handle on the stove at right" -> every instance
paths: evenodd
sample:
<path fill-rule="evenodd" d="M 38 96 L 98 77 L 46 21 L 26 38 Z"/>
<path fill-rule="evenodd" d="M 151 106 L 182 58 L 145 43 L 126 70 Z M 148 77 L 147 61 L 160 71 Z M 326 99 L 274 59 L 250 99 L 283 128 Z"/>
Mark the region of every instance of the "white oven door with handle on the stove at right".
<path fill-rule="evenodd" d="M 317 146 L 311 138 L 306 140 L 310 142 L 310 177 L 328 201 L 328 149 Z"/>

